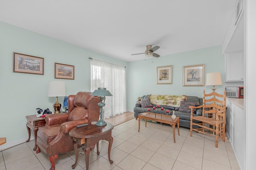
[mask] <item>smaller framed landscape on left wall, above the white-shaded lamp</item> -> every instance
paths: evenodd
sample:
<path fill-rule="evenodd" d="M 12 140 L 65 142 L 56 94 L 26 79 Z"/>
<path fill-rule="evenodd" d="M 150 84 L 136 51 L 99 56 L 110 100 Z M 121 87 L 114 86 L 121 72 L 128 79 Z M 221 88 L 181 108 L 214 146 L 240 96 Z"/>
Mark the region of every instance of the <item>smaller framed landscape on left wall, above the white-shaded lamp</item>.
<path fill-rule="evenodd" d="M 74 80 L 74 66 L 55 63 L 55 78 Z"/>

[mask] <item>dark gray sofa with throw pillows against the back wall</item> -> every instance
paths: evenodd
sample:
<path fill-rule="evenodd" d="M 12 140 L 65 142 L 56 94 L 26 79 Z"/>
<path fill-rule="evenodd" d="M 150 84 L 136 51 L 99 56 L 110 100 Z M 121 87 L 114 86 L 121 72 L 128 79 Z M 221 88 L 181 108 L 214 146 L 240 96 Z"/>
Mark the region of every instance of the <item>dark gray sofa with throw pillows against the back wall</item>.
<path fill-rule="evenodd" d="M 150 100 L 149 99 L 150 95 L 145 95 L 142 96 L 141 100 Z M 184 102 L 191 102 L 191 103 L 195 103 L 196 106 L 200 106 L 203 104 L 203 99 L 202 98 L 198 98 L 197 96 L 186 96 L 187 99 L 184 100 Z M 155 106 L 154 104 L 152 104 L 152 106 Z M 163 107 L 164 110 L 161 110 L 160 108 Z M 150 111 L 148 111 L 148 108 L 150 108 Z M 153 109 L 153 107 L 141 107 L 140 103 L 136 103 L 135 107 L 133 109 L 134 111 L 134 117 L 138 118 L 138 115 L 140 113 L 144 113 L 144 112 L 151 112 L 151 113 L 158 113 L 158 114 L 163 114 L 163 115 L 172 115 L 173 110 L 175 110 L 175 115 L 177 117 L 180 117 L 180 126 L 182 127 L 188 127 L 190 128 L 190 112 L 181 112 L 179 111 L 179 107 L 170 107 L 170 106 L 164 106 L 164 105 L 160 105 L 160 107 L 156 107 L 156 109 Z M 166 110 L 169 110 L 169 113 L 166 113 Z M 201 116 L 202 115 L 202 108 L 196 109 L 195 113 L 193 114 L 193 116 Z"/>

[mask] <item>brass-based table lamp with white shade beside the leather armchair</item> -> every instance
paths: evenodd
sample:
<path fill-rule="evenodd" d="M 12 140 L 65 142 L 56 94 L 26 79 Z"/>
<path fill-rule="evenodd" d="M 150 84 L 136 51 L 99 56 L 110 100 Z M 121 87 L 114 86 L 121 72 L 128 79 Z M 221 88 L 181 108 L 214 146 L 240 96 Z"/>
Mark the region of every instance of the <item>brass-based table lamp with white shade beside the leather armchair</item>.
<path fill-rule="evenodd" d="M 61 104 L 58 102 L 59 96 L 66 96 L 65 82 L 50 81 L 48 87 L 48 97 L 56 97 L 56 102 L 53 104 L 54 113 L 60 113 Z"/>

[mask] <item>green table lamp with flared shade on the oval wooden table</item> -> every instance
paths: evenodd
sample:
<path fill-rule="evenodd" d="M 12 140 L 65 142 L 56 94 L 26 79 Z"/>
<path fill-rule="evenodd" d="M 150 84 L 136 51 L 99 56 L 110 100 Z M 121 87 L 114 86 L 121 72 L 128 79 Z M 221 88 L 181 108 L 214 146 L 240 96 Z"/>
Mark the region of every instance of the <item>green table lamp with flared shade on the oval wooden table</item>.
<path fill-rule="evenodd" d="M 105 104 L 102 102 L 105 98 L 105 96 L 113 96 L 106 88 L 99 87 L 98 90 L 94 90 L 91 94 L 91 96 L 100 96 L 100 103 L 98 103 L 98 106 L 100 107 L 100 120 L 97 121 L 96 126 L 105 126 L 107 123 L 102 119 L 102 107 L 105 106 Z"/>

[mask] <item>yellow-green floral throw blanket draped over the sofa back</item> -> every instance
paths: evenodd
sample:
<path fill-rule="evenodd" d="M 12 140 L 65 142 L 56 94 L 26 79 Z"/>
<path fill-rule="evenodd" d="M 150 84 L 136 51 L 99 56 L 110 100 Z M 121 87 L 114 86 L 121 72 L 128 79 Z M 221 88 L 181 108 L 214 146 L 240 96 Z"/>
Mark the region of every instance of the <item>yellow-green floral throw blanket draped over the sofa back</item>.
<path fill-rule="evenodd" d="M 183 96 L 151 95 L 150 103 L 155 105 L 180 107 L 180 102 L 183 102 L 185 99 L 187 99 L 186 95 L 183 95 Z"/>

